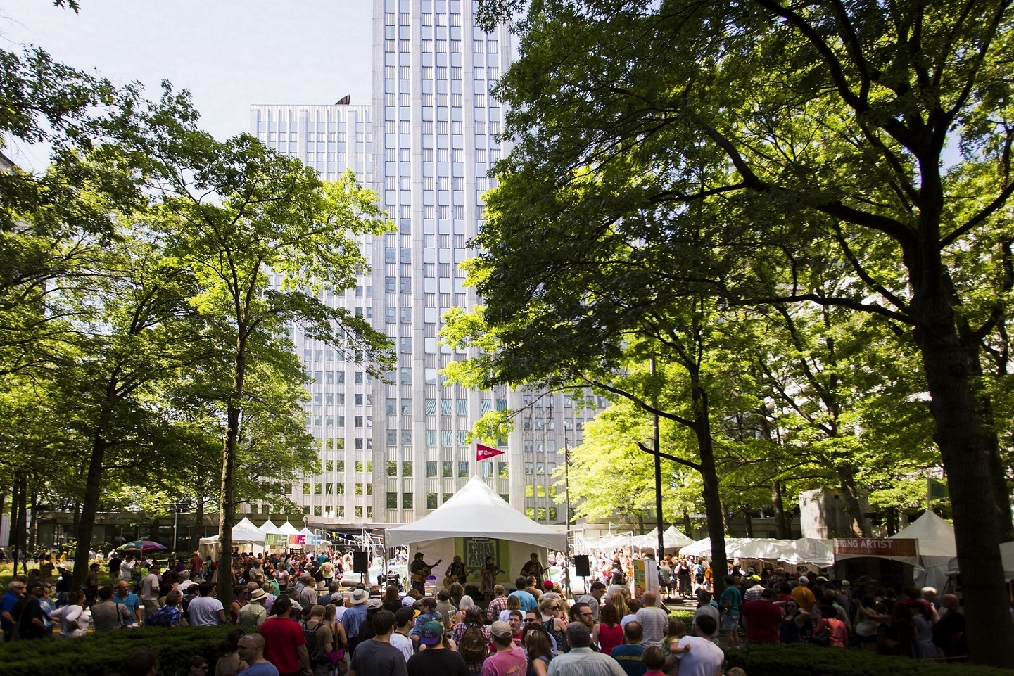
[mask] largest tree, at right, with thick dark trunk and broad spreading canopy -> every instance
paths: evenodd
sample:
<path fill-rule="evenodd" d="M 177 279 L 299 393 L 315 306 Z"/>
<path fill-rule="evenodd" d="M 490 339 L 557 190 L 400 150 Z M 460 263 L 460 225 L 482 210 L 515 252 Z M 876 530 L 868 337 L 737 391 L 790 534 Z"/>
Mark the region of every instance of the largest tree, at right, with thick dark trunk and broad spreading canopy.
<path fill-rule="evenodd" d="M 965 313 L 986 281 L 962 286 L 972 278 L 954 252 L 995 255 L 981 235 L 1008 227 L 1010 11 L 1007 0 L 546 0 L 517 24 L 521 58 L 496 91 L 516 141 L 499 170 L 527 189 L 505 198 L 518 205 L 513 218 L 531 222 L 557 205 L 610 223 L 711 204 L 700 213 L 722 210 L 715 237 L 779 271 L 767 291 L 746 268 L 708 275 L 716 289 L 870 312 L 911 331 L 952 496 L 970 652 L 1008 667 L 998 543 L 1010 537 L 1010 501 L 974 367 L 997 319 Z M 980 169 L 983 190 L 956 190 L 943 168 L 948 147 Z M 589 171 L 622 198 L 574 196 L 569 186 Z M 703 260 L 725 253 L 704 243 L 712 248 L 672 245 L 695 246 Z M 827 252 L 848 261 L 865 295 L 822 296 L 795 275 Z M 1004 288 L 1002 277 L 991 286 Z M 1002 313 L 1005 303 L 982 305 Z M 999 641 L 997 626 L 1008 627 Z"/>

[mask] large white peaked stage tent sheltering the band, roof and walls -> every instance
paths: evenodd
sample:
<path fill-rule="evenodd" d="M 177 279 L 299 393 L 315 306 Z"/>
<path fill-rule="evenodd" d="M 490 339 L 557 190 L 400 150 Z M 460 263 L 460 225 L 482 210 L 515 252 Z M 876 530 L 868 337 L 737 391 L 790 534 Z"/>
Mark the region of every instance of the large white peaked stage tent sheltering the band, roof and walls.
<path fill-rule="evenodd" d="M 501 582 L 512 582 L 532 551 L 538 553 L 545 566 L 548 549 L 567 549 L 566 532 L 527 518 L 476 475 L 433 512 L 384 531 L 387 547 L 411 545 L 410 556 L 422 551 L 428 564 L 442 559 L 442 565 L 432 572 L 437 584 L 454 556 L 455 538 L 490 538 L 506 542 L 507 560 L 497 561 L 504 571 L 499 578 Z"/>

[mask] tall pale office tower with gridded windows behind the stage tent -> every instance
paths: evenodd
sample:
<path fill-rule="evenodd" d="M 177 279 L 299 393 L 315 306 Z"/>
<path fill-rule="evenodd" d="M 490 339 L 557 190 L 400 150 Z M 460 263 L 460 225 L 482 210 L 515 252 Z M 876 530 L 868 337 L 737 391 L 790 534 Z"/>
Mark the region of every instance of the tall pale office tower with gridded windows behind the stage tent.
<path fill-rule="evenodd" d="M 483 225 L 483 194 L 495 185 L 487 171 L 508 150 L 498 139 L 503 109 L 489 90 L 510 63 L 511 36 L 478 27 L 477 4 L 375 0 L 370 105 L 251 106 L 262 141 L 327 178 L 353 169 L 396 224 L 396 232 L 361 238 L 371 270 L 356 288 L 323 298 L 388 335 L 397 353 L 390 383 L 293 328 L 312 379 L 307 431 L 320 465 L 290 497 L 324 527 L 413 521 L 477 473 L 530 518 L 566 523 L 553 474 L 565 434 L 577 443 L 594 409 L 560 394 L 469 391 L 444 385 L 439 373 L 467 356 L 439 345 L 437 332 L 448 309 L 479 300 L 459 264 L 475 254 L 467 242 Z M 465 436 L 494 407 L 523 412 L 501 444 L 505 454 L 477 462 Z"/>

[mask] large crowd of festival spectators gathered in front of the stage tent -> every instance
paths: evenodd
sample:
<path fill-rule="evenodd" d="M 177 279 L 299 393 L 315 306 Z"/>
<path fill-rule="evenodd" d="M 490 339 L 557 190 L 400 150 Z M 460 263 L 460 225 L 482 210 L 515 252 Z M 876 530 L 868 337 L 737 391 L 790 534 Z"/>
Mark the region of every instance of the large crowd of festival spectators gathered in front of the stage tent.
<path fill-rule="evenodd" d="M 350 557 L 351 558 L 351 557 Z M 719 673 L 723 653 L 748 644 L 808 642 L 916 658 L 965 655 L 957 597 L 932 588 L 893 590 L 864 576 L 850 583 L 797 576 L 781 568 L 723 567 L 714 576 L 704 559 L 667 556 L 659 562 L 661 593 L 635 598 L 630 571 L 617 556 L 599 561 L 589 592 L 568 598 L 545 579 L 536 554 L 513 588 L 488 585 L 466 593 L 470 572 L 459 557 L 445 571 L 446 588 L 427 588 L 435 566 L 418 552 L 412 586 L 373 594 L 343 586 L 349 561 L 336 552 L 241 554 L 223 576 L 197 552 L 165 569 L 130 554 L 110 558 L 113 584 L 98 585 L 99 564 L 71 589 L 57 567 L 16 577 L 0 604 L 4 639 L 61 639 L 132 626 L 183 624 L 237 629 L 223 644 L 216 674 L 630 674 Z M 438 561 L 439 562 L 439 561 Z M 630 560 L 627 561 L 630 565 Z M 495 564 L 486 561 L 483 569 Z M 499 569 L 498 569 L 499 570 Z M 495 576 L 494 576 L 495 577 Z M 228 607 L 220 585 L 232 588 Z M 668 615 L 662 597 L 696 598 L 690 627 Z M 142 661 L 143 662 L 143 661 Z M 139 663 L 140 664 L 140 663 Z M 139 667 L 140 668 L 140 667 Z M 199 670 L 199 667 L 195 667 Z M 143 673 L 143 672 L 137 672 Z"/>

